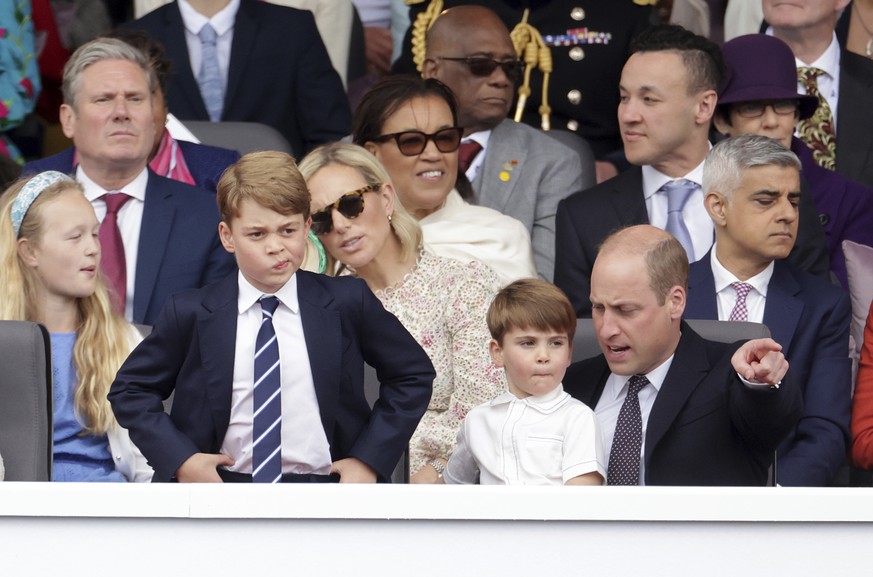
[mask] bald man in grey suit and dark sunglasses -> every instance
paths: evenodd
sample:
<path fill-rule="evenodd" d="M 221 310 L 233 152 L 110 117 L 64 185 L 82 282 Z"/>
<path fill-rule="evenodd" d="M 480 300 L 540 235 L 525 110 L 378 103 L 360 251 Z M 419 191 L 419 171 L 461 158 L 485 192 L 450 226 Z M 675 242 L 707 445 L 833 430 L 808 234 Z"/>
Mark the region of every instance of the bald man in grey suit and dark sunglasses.
<path fill-rule="evenodd" d="M 475 202 L 524 223 L 537 273 L 551 281 L 558 201 L 582 190 L 583 179 L 593 184 L 594 167 L 588 166 L 583 176 L 575 151 L 506 118 L 522 68 L 509 31 L 494 12 L 481 6 L 451 8 L 427 38 L 422 75 L 446 84 L 458 100 L 458 121 L 464 127 L 461 169 L 473 185 Z M 491 72 L 474 74 L 483 65 L 491 66 Z M 477 147 L 473 154 L 466 153 L 469 146 Z"/>

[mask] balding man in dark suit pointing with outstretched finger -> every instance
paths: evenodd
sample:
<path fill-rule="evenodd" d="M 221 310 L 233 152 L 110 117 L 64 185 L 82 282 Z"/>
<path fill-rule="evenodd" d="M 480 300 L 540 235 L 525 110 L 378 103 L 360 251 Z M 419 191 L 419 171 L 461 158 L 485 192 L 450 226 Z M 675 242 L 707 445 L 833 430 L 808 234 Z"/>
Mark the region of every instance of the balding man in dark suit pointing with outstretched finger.
<path fill-rule="evenodd" d="M 763 485 L 794 426 L 800 393 L 772 339 L 701 339 L 682 322 L 688 258 L 650 225 L 608 237 L 591 302 L 603 354 L 564 388 L 594 409 L 609 484 Z"/>

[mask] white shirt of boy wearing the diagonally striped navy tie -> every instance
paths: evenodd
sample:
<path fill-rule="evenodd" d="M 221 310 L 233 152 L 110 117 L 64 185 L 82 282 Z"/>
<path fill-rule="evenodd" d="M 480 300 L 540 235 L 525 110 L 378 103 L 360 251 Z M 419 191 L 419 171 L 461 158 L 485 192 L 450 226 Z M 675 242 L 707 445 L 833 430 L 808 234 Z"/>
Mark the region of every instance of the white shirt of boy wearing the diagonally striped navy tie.
<path fill-rule="evenodd" d="M 239 273 L 239 317 L 236 327 L 236 350 L 233 363 L 233 393 L 230 422 L 221 444 L 221 452 L 236 461 L 229 470 L 252 472 L 252 428 L 254 420 L 255 341 L 261 327 L 264 293 L 253 287 Z M 279 341 L 279 368 L 282 385 L 282 472 L 330 473 L 330 446 L 321 414 L 303 323 L 297 300 L 297 275 L 274 295 L 279 308 L 273 315 L 273 327 Z"/>

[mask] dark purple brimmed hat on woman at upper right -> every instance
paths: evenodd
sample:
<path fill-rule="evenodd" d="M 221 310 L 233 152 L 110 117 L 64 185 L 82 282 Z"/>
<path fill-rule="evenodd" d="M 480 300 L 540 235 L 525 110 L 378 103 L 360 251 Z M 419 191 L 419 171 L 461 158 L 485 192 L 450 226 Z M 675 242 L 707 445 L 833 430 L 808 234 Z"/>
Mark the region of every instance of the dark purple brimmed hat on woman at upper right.
<path fill-rule="evenodd" d="M 815 113 L 818 98 L 797 93 L 797 65 L 787 44 L 766 34 L 748 34 L 725 42 L 721 50 L 727 74 L 719 105 L 796 98 L 801 120 Z"/>

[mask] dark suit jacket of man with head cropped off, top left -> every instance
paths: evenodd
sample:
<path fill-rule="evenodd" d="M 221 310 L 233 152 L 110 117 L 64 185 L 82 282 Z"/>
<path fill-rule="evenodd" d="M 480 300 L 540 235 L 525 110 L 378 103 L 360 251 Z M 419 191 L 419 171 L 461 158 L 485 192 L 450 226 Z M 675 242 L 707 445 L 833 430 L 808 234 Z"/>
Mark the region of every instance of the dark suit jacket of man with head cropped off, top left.
<path fill-rule="evenodd" d="M 185 43 L 176 2 L 126 25 L 167 49 L 173 63 L 167 89 L 180 120 L 209 120 Z M 222 120 L 261 122 L 281 132 L 294 154 L 339 140 L 351 130 L 351 112 L 311 12 L 242 0 L 233 27 Z"/>

